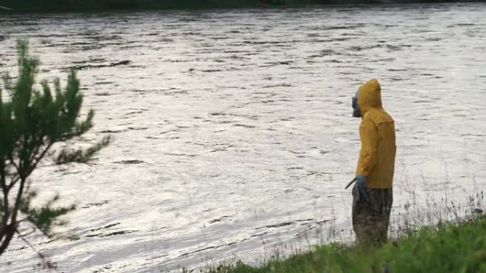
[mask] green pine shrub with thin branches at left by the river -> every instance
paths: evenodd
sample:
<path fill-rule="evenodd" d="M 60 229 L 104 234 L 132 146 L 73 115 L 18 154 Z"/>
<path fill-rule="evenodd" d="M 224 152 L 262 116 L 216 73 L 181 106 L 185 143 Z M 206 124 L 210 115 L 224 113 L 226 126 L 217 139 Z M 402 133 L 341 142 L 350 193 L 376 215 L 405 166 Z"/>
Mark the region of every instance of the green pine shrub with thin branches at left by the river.
<path fill-rule="evenodd" d="M 53 225 L 60 224 L 60 216 L 74 206 L 53 207 L 59 196 L 44 206 L 31 206 L 36 191 L 29 176 L 39 163 L 53 160 L 57 164 L 87 162 L 109 137 L 86 150 L 55 150 L 55 143 L 73 140 L 92 128 L 93 111 L 80 120 L 82 94 L 74 69 L 68 74 L 63 89 L 59 79 L 54 91 L 48 82 L 41 82 L 42 90 L 34 88 L 39 61 L 28 55 L 28 43 L 18 40 L 18 78 L 14 82 L 5 74 L 4 94 L 0 89 L 0 255 L 18 233 L 20 223 L 31 223 L 45 235 Z M 22 238 L 22 237 L 21 237 Z"/>

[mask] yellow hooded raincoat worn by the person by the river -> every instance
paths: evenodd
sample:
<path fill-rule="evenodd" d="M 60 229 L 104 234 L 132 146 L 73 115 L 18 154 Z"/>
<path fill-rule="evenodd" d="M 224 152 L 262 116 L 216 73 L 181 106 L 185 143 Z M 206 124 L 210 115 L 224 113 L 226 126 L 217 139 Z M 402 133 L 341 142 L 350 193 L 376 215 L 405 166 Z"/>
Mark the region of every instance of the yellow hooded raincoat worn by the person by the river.
<path fill-rule="evenodd" d="M 395 126 L 392 116 L 382 107 L 379 82 L 370 79 L 358 89 L 357 103 L 361 110 L 361 150 L 356 175 L 367 177 L 371 189 L 392 188 L 395 169 Z"/>

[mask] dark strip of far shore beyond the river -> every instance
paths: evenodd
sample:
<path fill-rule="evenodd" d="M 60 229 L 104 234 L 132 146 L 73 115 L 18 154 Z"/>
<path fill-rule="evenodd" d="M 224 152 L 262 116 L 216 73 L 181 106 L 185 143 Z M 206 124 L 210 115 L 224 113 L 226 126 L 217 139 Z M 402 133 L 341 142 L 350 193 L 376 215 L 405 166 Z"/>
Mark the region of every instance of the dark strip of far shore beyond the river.
<path fill-rule="evenodd" d="M 170 1 L 169 1 L 170 2 Z M 218 3 L 219 2 L 219 3 Z M 206 0 L 204 4 L 192 0 L 180 1 L 176 4 L 164 0 L 105 0 L 101 3 L 90 1 L 65 1 L 60 6 L 58 1 L 46 0 L 45 3 L 29 6 L 29 3 L 7 0 L 0 5 L 0 14 L 21 13 L 97 13 L 97 12 L 143 12 L 143 11 L 225 11 L 234 9 L 312 9 L 336 6 L 393 6 L 418 4 L 470 4 L 485 3 L 486 0 L 472 1 L 427 1 L 427 0 L 240 0 L 217 1 Z"/>

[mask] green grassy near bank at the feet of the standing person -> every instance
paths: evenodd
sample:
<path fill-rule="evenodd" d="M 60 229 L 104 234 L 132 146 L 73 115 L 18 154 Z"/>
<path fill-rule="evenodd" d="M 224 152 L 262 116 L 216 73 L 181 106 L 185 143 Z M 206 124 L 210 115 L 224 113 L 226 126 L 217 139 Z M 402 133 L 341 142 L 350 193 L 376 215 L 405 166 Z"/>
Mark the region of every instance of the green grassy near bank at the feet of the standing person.
<path fill-rule="evenodd" d="M 486 272 L 486 217 L 441 223 L 377 248 L 325 245 L 286 260 L 252 267 L 238 262 L 210 273 L 446 273 Z"/>

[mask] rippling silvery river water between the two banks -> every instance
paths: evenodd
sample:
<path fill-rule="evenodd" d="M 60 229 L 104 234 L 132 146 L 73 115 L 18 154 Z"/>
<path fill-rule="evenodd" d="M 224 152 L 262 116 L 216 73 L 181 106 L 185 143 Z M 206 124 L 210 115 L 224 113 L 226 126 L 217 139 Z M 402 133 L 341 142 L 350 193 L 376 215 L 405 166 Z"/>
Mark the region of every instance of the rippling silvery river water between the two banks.
<path fill-rule="evenodd" d="M 165 272 L 306 249 L 342 229 L 371 77 L 396 120 L 396 218 L 406 202 L 486 189 L 486 5 L 0 17 L 0 69 L 27 37 L 41 77 L 80 69 L 95 164 L 33 175 L 72 238 L 24 230 L 61 272 Z M 2 272 L 38 272 L 20 241 Z"/>

